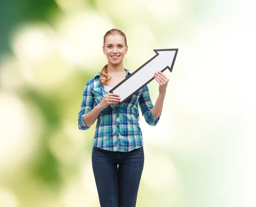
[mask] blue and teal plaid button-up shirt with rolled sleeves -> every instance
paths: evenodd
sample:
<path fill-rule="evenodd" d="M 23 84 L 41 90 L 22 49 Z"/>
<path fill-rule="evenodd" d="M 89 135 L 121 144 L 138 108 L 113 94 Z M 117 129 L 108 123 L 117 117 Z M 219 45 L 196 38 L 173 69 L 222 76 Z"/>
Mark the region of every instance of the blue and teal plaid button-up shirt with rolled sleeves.
<path fill-rule="evenodd" d="M 128 77 L 131 73 L 127 69 L 125 71 Z M 90 112 L 108 93 L 99 83 L 99 76 L 100 72 L 85 85 L 78 119 L 80 130 L 90 128 L 84 124 L 84 114 Z M 145 86 L 121 105 L 111 104 L 101 111 L 97 118 L 93 147 L 121 152 L 142 147 L 143 137 L 138 122 L 140 119 L 138 104 L 145 121 L 151 126 L 156 125 L 160 117 L 156 119 L 152 116 L 153 104 L 148 87 Z"/>

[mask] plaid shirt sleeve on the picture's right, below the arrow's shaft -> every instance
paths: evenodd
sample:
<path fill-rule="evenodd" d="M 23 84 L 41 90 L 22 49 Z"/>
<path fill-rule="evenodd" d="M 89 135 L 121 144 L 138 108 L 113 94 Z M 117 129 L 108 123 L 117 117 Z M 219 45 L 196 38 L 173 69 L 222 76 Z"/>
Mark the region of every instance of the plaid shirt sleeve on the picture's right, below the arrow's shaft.
<path fill-rule="evenodd" d="M 158 118 L 155 118 L 152 115 L 153 104 L 149 96 L 148 86 L 145 86 L 143 88 L 143 92 L 139 98 L 139 105 L 145 121 L 151 126 L 157 125 L 157 122 L 159 121 L 160 116 Z"/>

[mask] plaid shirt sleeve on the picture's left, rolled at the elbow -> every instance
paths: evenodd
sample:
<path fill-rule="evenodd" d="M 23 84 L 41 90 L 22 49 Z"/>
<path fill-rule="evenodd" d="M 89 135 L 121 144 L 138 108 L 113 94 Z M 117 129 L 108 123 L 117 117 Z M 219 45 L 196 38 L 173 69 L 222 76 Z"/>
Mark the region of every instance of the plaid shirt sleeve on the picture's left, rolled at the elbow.
<path fill-rule="evenodd" d="M 83 99 L 81 102 L 81 108 L 78 115 L 78 128 L 80 130 L 87 130 L 90 127 L 87 127 L 84 123 L 84 115 L 90 112 L 93 109 L 94 95 L 91 92 L 90 85 L 87 82 L 84 88 Z"/>

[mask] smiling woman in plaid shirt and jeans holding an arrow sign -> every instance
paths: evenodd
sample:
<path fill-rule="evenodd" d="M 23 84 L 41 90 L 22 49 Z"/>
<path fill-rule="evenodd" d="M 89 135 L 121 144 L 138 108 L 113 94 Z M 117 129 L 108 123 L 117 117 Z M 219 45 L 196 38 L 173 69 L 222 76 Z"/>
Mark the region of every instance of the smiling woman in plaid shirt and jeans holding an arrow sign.
<path fill-rule="evenodd" d="M 119 95 L 108 91 L 130 75 L 123 68 L 128 51 L 125 34 L 111 29 L 104 36 L 102 49 L 108 65 L 85 85 L 79 129 L 87 130 L 97 119 L 92 164 L 101 207 L 135 207 L 144 165 L 138 104 L 145 121 L 156 125 L 169 79 L 161 72 L 154 74 L 159 83 L 154 107 L 147 86 L 119 105 Z"/>

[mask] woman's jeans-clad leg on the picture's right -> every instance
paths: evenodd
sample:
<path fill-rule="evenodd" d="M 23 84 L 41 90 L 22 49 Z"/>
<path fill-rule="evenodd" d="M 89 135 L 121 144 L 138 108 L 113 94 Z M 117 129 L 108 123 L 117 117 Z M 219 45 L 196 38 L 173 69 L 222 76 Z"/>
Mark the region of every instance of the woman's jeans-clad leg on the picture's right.
<path fill-rule="evenodd" d="M 143 147 L 118 153 L 119 207 L 135 207 L 144 166 Z"/>

